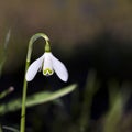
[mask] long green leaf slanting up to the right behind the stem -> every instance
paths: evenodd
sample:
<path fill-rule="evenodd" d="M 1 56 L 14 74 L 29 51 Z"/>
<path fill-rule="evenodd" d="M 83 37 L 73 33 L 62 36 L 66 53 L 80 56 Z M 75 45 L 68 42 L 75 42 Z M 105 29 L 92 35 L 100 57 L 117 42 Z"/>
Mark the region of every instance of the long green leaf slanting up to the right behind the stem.
<path fill-rule="evenodd" d="M 67 86 L 67 87 L 59 89 L 57 91 L 54 91 L 54 92 L 41 91 L 41 92 L 34 94 L 34 95 L 28 97 L 26 107 L 33 107 L 33 106 L 41 105 L 44 102 L 53 101 L 57 98 L 61 98 L 61 97 L 72 92 L 76 88 L 77 88 L 77 85 L 74 84 L 74 85 Z M 20 108 L 21 108 L 21 99 L 15 99 L 8 103 L 0 105 L 0 114 L 4 114 L 10 111 L 15 111 Z"/>

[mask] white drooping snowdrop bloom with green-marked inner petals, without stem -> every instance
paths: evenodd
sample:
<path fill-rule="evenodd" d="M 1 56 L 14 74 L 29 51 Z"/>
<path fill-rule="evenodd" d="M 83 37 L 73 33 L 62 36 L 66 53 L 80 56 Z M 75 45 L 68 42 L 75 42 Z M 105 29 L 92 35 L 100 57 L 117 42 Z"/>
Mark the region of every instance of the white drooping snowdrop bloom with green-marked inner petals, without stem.
<path fill-rule="evenodd" d="M 31 81 L 38 70 L 43 70 L 43 75 L 45 76 L 53 75 L 55 72 L 63 81 L 67 81 L 68 79 L 68 72 L 65 65 L 51 52 L 45 52 L 40 58 L 30 65 L 25 75 L 26 81 Z"/>

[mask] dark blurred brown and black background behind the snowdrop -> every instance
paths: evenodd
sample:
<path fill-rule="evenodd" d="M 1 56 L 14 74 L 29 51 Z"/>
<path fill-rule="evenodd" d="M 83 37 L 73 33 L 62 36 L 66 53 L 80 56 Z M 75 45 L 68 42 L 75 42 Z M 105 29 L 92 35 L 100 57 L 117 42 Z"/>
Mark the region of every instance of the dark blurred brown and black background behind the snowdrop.
<path fill-rule="evenodd" d="M 0 90 L 14 86 L 15 91 L 9 98 L 20 97 L 24 76 L 24 64 L 30 37 L 38 32 L 48 35 L 53 54 L 68 68 L 69 79 L 62 82 L 56 75 L 46 78 L 38 74 L 29 84 L 29 94 L 50 88 L 56 90 L 73 82 L 79 85 L 80 94 L 89 70 L 97 73 L 101 81 L 92 113 L 97 119 L 107 109 L 106 84 L 110 79 L 132 80 L 132 1 L 131 0 L 4 0 L 0 1 L 0 47 L 11 29 L 7 62 L 0 78 Z M 32 61 L 43 54 L 43 40 L 35 42 Z M 8 98 L 8 97 L 7 97 Z M 8 99 L 6 99 L 8 100 Z M 65 110 L 69 116 L 70 100 L 64 98 Z M 100 106 L 100 105 L 101 106 Z M 131 102 L 130 102 L 131 103 Z M 46 107 L 45 107 L 46 106 Z M 43 122 L 51 123 L 46 110 L 50 105 L 31 108 L 28 111 L 29 127 L 33 114 L 43 113 Z M 54 106 L 52 106 L 54 107 Z M 43 108 L 43 109 L 42 109 Z M 50 109 L 52 111 L 52 108 Z M 52 111 L 53 113 L 53 111 Z M 7 121 L 11 114 L 13 121 Z M 18 123 L 20 111 L 3 117 L 4 122 Z M 11 118 L 13 118 L 11 117 Z M 70 117 L 70 116 L 69 116 Z M 66 116 L 67 118 L 67 116 Z M 42 116 L 37 120 L 42 119 Z M 36 121 L 42 128 L 42 122 Z M 45 124 L 45 128 L 48 128 Z M 19 124 L 19 123 L 18 123 Z M 38 130 L 37 130 L 38 131 Z M 42 131 L 42 130 L 40 130 Z M 50 130 L 47 129 L 47 132 Z M 46 132 L 46 130 L 45 130 Z"/>

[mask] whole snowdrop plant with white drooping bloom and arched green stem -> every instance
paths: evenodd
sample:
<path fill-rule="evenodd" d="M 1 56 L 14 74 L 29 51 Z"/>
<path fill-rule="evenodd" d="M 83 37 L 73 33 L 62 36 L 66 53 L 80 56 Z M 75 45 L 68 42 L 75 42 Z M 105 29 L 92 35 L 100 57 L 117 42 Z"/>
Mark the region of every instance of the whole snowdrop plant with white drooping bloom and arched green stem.
<path fill-rule="evenodd" d="M 37 58 L 35 62 L 33 62 L 30 65 L 31 62 L 31 55 L 32 55 L 32 48 L 34 42 L 43 37 L 46 42 L 45 44 L 45 53 Z M 55 72 L 57 76 L 63 80 L 67 81 L 68 79 L 68 72 L 64 64 L 58 61 L 51 52 L 51 46 L 48 43 L 50 38 L 46 34 L 44 33 L 36 33 L 34 34 L 29 42 L 29 47 L 28 47 L 28 54 L 26 54 L 26 63 L 25 63 L 25 78 L 23 81 L 23 96 L 22 96 L 22 111 L 21 111 L 21 125 L 20 125 L 20 132 L 25 131 L 25 110 L 26 110 L 26 90 L 28 90 L 28 81 L 33 80 L 35 75 L 37 74 L 38 70 L 43 70 L 43 75 L 50 76 L 53 75 Z M 30 65 L 30 67 L 29 67 Z"/>

